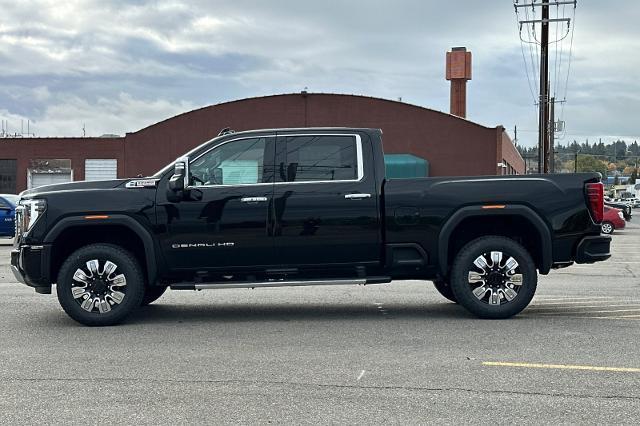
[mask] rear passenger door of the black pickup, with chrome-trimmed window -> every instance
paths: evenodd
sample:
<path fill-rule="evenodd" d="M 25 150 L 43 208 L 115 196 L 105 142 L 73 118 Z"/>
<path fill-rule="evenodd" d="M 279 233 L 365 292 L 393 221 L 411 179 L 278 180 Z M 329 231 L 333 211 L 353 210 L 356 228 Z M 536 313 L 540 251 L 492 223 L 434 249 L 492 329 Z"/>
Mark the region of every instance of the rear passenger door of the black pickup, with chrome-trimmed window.
<path fill-rule="evenodd" d="M 282 265 L 380 261 L 372 155 L 366 135 L 278 133 L 274 235 Z"/>

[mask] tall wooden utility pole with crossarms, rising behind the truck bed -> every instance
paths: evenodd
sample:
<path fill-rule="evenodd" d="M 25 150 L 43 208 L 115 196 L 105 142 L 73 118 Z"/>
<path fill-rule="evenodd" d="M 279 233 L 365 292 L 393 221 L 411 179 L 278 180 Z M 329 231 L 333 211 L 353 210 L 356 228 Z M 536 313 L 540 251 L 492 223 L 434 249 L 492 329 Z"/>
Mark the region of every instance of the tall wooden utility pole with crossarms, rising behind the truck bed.
<path fill-rule="evenodd" d="M 571 22 L 570 18 L 549 19 L 549 6 L 562 4 L 576 5 L 577 0 L 572 1 L 548 1 L 519 4 L 516 0 L 516 11 L 519 7 L 542 7 L 541 19 L 519 21 L 520 25 L 541 24 L 540 30 L 540 98 L 538 101 L 538 173 L 549 173 L 549 22 Z"/>

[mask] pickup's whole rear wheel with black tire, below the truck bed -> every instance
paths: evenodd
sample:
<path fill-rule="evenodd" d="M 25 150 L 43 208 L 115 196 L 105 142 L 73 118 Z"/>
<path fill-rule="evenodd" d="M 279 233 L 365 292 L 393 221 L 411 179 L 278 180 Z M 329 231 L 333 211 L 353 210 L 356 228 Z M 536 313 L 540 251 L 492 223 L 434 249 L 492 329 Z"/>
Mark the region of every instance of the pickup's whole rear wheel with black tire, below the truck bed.
<path fill-rule="evenodd" d="M 501 260 L 495 262 L 492 252 L 500 253 Z M 480 257 L 487 260 L 485 269 L 474 263 Z M 517 262 L 513 269 L 507 265 L 511 258 Z M 495 266 L 496 263 L 498 266 Z M 473 277 L 476 280 L 481 276 L 478 271 L 482 271 L 482 279 L 472 283 L 470 272 L 473 271 L 477 274 Z M 520 284 L 514 284 L 517 282 Z M 537 284 L 538 273 L 531 255 L 509 238 L 488 236 L 473 240 L 460 250 L 453 263 L 453 295 L 460 305 L 480 318 L 501 319 L 520 313 L 531 302 Z M 474 290 L 478 295 L 474 294 Z M 497 295 L 495 298 L 494 294 Z"/>

